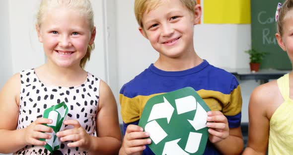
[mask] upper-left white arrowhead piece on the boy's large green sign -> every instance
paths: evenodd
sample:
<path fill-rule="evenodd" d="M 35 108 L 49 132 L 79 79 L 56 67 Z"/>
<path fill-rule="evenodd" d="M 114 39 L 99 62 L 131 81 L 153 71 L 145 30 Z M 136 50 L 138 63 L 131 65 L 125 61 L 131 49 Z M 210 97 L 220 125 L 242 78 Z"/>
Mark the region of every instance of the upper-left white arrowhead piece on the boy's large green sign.
<path fill-rule="evenodd" d="M 164 97 L 163 103 L 158 103 L 152 106 L 147 122 L 151 120 L 159 119 L 159 118 L 167 118 L 167 122 L 169 123 L 172 117 L 173 111 L 174 111 L 173 106 Z"/>

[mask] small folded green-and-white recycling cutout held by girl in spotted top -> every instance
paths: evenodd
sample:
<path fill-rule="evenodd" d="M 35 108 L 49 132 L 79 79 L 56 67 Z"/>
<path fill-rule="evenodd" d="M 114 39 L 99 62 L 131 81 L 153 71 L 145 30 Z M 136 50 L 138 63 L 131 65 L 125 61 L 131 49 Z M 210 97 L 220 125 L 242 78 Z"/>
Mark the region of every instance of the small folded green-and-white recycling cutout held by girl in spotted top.
<path fill-rule="evenodd" d="M 61 130 L 65 116 L 67 116 L 68 107 L 65 102 L 59 103 L 55 106 L 52 106 L 44 111 L 44 118 L 52 119 L 52 124 L 45 124 L 48 127 L 53 129 L 53 133 L 46 133 L 51 135 L 51 139 L 40 139 L 41 141 L 46 141 L 44 146 L 51 153 L 60 149 L 60 141 L 56 136 L 56 133 Z"/>

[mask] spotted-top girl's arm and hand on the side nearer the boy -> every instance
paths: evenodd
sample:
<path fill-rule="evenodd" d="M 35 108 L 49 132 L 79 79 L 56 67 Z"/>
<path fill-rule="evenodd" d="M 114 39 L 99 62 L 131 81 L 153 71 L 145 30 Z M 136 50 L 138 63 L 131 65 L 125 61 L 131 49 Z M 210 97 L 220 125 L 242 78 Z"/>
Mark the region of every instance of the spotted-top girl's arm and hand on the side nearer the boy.
<path fill-rule="evenodd" d="M 114 95 L 110 87 L 101 80 L 99 107 L 96 116 L 97 137 L 89 136 L 77 120 L 67 120 L 65 125 L 73 125 L 74 129 L 58 132 L 61 141 L 73 141 L 69 147 L 80 147 L 90 155 L 116 155 L 121 147 L 121 132 L 118 111 Z"/>

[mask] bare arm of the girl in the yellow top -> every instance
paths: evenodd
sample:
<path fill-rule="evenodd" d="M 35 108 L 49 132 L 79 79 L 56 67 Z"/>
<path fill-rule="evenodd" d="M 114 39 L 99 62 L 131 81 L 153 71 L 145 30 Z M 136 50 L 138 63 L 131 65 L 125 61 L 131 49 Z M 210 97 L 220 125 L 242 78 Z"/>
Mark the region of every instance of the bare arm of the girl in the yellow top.
<path fill-rule="evenodd" d="M 269 141 L 270 121 L 267 117 L 267 106 L 271 95 L 261 93 L 263 86 L 257 87 L 251 94 L 249 101 L 249 134 L 248 145 L 243 155 L 266 155 Z M 268 89 L 268 88 L 267 88 Z M 272 90 L 272 89 L 271 89 Z M 266 94 L 266 95 L 264 95 Z M 276 95 L 274 95 L 276 96 Z"/>

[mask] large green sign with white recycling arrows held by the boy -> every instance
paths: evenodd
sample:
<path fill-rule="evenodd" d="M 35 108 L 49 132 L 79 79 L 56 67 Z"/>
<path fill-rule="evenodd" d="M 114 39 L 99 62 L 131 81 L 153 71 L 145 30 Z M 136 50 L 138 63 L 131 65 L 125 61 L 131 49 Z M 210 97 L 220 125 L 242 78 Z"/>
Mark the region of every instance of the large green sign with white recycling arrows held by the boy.
<path fill-rule="evenodd" d="M 139 126 L 150 134 L 155 155 L 202 155 L 208 141 L 208 105 L 192 88 L 151 97 Z"/>

